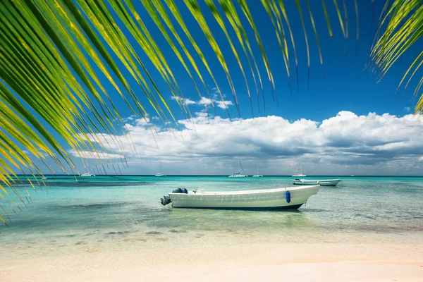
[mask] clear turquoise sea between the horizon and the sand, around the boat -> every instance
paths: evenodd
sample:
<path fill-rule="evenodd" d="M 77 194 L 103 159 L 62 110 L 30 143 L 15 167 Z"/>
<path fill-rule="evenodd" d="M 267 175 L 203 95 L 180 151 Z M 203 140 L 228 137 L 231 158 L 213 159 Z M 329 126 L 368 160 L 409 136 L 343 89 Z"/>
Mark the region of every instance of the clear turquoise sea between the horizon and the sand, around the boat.
<path fill-rule="evenodd" d="M 422 177 L 341 177 L 296 211 L 173 209 L 176 188 L 248 190 L 293 178 L 227 176 L 47 176 L 31 203 L 0 226 L 0 257 L 257 242 L 423 243 Z M 330 179 L 340 177 L 307 177 Z M 77 181 L 78 180 L 78 181 Z M 1 200 L 0 200 L 1 202 Z M 4 202 L 1 204 L 5 206 Z M 2 213 L 3 214 L 3 213 Z"/>

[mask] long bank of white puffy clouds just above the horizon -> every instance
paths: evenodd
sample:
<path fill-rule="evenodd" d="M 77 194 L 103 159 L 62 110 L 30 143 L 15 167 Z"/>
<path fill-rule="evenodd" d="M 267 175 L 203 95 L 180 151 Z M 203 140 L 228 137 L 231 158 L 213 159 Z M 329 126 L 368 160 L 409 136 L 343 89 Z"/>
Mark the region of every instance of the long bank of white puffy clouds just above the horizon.
<path fill-rule="evenodd" d="M 423 123 L 413 115 L 340 111 L 324 121 L 291 122 L 280 116 L 229 120 L 197 113 L 178 123 L 180 132 L 157 128 L 154 135 L 141 122 L 127 124 L 133 142 L 121 136 L 124 152 L 111 151 L 124 153 L 130 167 L 145 164 L 147 171 L 152 161 L 178 162 L 169 164 L 168 173 L 228 174 L 237 159 L 251 169 L 259 162 L 264 174 L 293 173 L 298 161 L 308 174 L 421 173 Z M 111 136 L 104 138 L 113 144 Z"/>

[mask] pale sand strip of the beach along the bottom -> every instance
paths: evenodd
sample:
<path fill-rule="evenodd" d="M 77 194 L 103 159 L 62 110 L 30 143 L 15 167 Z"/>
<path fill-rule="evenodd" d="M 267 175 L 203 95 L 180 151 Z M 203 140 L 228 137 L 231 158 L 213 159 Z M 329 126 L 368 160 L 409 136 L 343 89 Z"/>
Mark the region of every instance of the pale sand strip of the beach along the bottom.
<path fill-rule="evenodd" d="M 423 281 L 422 245 L 260 244 L 2 260 L 0 281 Z"/>

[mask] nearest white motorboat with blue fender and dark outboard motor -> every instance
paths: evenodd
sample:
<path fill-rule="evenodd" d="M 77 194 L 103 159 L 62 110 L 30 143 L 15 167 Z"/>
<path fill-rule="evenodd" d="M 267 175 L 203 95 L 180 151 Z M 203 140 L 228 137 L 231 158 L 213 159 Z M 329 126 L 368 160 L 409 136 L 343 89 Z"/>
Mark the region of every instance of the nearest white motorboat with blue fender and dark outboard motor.
<path fill-rule="evenodd" d="M 161 198 L 161 204 L 197 209 L 298 209 L 319 192 L 319 185 L 228 192 L 178 188 Z"/>

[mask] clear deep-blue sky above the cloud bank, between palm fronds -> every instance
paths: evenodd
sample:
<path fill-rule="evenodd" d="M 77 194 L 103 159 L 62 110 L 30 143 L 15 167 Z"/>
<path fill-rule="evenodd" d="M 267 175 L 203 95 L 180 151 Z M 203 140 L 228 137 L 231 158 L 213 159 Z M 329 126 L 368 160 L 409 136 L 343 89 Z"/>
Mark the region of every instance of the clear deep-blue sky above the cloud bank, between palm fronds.
<path fill-rule="evenodd" d="M 298 53 L 300 81 L 298 94 L 296 91 L 295 64 L 293 63 L 293 58 L 291 58 L 291 71 L 293 72 L 293 90 L 291 94 L 290 88 L 288 87 L 288 78 L 286 75 L 285 67 L 283 66 L 281 50 L 278 46 L 274 27 L 271 25 L 269 16 L 267 16 L 266 11 L 262 7 L 260 1 L 248 1 L 250 10 L 252 11 L 255 18 L 257 29 L 259 30 L 260 36 L 262 38 L 266 55 L 270 61 L 271 71 L 274 74 L 276 83 L 276 94 L 278 95 L 279 101 L 279 105 L 277 105 L 272 100 L 271 86 L 269 81 L 266 79 L 264 63 L 262 63 L 257 44 L 254 42 L 254 35 L 250 28 L 246 28 L 250 42 L 252 43 L 252 48 L 255 51 L 255 57 L 259 65 L 260 72 L 262 73 L 264 80 L 264 92 L 266 97 L 266 112 L 262 111 L 261 113 L 258 113 L 257 100 L 253 99 L 253 109 L 255 111 L 255 116 L 266 116 L 274 114 L 288 118 L 288 120 L 295 120 L 298 118 L 312 118 L 321 120 L 323 118 L 333 116 L 341 109 L 353 111 L 356 114 L 367 114 L 369 112 L 384 114 L 388 112 L 390 114 L 403 115 L 405 114 L 405 108 L 413 108 L 415 102 L 412 101 L 410 91 L 406 94 L 402 94 L 402 92 L 398 92 L 398 94 L 396 94 L 395 92 L 400 78 L 402 78 L 403 74 L 407 70 L 407 67 L 410 66 L 410 63 L 415 59 L 415 56 L 417 56 L 420 51 L 417 45 L 414 49 L 408 52 L 407 56 L 404 56 L 402 59 L 400 59 L 398 63 L 396 63 L 396 65 L 391 69 L 391 71 L 388 72 L 388 75 L 386 75 L 386 77 L 379 83 L 377 82 L 376 76 L 373 73 L 368 70 L 364 70 L 364 66 L 366 65 L 369 58 L 369 50 L 372 44 L 372 39 L 374 37 L 374 32 L 376 30 L 376 23 L 374 23 L 372 30 L 370 29 L 372 25 L 371 1 L 359 1 L 360 38 L 358 40 L 357 49 L 355 39 L 356 18 L 354 5 L 353 1 L 347 1 L 350 35 L 347 41 L 347 56 L 344 56 L 345 40 L 343 39 L 341 26 L 339 25 L 333 4 L 330 3 L 327 5 L 329 9 L 331 26 L 333 28 L 333 37 L 329 37 L 321 2 L 310 1 L 312 11 L 314 12 L 314 20 L 317 23 L 319 40 L 321 42 L 325 78 L 323 78 L 322 75 L 317 44 L 316 40 L 314 39 L 314 32 L 312 31 L 311 23 L 309 22 L 307 7 L 302 1 L 302 4 L 304 4 L 302 6 L 302 12 L 305 18 L 305 25 L 307 26 L 311 59 L 309 91 L 307 91 L 307 53 L 302 25 L 300 24 L 298 10 L 295 7 L 294 2 L 286 2 L 287 13 L 288 17 L 290 18 L 290 24 L 293 29 L 295 45 L 297 47 Z M 383 4 L 383 1 L 376 1 L 375 21 L 378 19 Z M 207 6 L 204 4 L 201 6 L 202 10 L 204 11 L 204 15 L 207 16 L 206 19 L 208 23 L 210 23 L 209 27 L 211 28 L 214 37 L 216 37 L 216 41 L 219 42 L 226 62 L 228 63 L 228 68 L 234 81 L 235 90 L 238 94 L 238 99 L 240 100 L 241 116 L 243 118 L 250 118 L 252 115 L 250 111 L 250 102 L 247 98 L 247 89 L 245 87 L 243 75 L 238 68 L 238 63 L 236 63 L 235 56 L 233 56 L 231 49 L 227 44 L 226 37 L 224 36 L 223 32 L 221 32 L 220 27 L 216 24 L 212 14 L 207 13 Z M 216 60 L 216 56 L 214 56 L 212 48 L 209 46 L 206 38 L 202 34 L 200 27 L 198 27 L 195 20 L 192 18 L 192 16 L 190 16 L 188 9 L 183 4 L 180 4 L 179 8 L 181 13 L 183 13 L 185 16 L 184 19 L 186 20 L 187 25 L 190 27 L 192 35 L 195 37 L 195 39 L 197 39 L 197 44 L 199 44 L 200 48 L 203 50 L 206 58 L 208 59 L 208 62 L 210 63 L 212 71 L 216 76 L 216 80 L 219 82 L 219 87 L 221 87 L 223 94 L 226 94 L 226 99 L 233 101 L 231 90 L 227 83 L 225 74 L 222 71 L 219 61 Z M 139 10 L 142 11 L 142 8 L 140 7 Z M 242 11 L 238 12 L 240 16 L 243 16 Z M 147 26 L 152 27 L 152 34 L 157 35 L 159 32 L 154 29 L 152 22 L 149 21 L 149 16 L 145 14 L 142 14 L 142 16 L 144 16 L 143 20 L 145 20 Z M 248 27 L 248 23 L 245 20 L 245 17 L 241 18 L 243 19 L 244 26 Z M 226 24 L 228 25 L 228 23 Z M 228 30 L 230 30 L 230 35 L 233 39 L 233 42 L 236 43 L 235 34 L 234 32 L 231 32 L 229 25 Z M 183 34 L 181 30 L 178 31 L 180 34 Z M 188 75 L 186 75 L 183 67 L 176 59 L 176 56 L 173 56 L 170 47 L 168 47 L 168 44 L 160 36 L 155 38 L 158 39 L 157 42 L 159 46 L 161 46 L 161 51 L 168 55 L 168 63 L 172 67 L 173 72 L 176 74 L 177 81 L 179 82 L 179 86 L 184 94 L 184 97 L 192 100 L 198 100 L 197 92 L 193 90 L 192 82 L 190 82 Z M 243 52 L 240 49 L 239 44 L 235 44 L 235 46 L 238 47 L 237 49 L 241 55 L 244 68 L 246 68 L 245 71 L 250 85 L 250 90 L 254 90 L 254 82 L 247 68 L 247 60 L 245 59 L 245 56 L 242 56 Z M 192 54 L 195 54 L 192 48 L 190 48 L 190 50 L 192 50 Z M 292 48 L 290 51 L 292 51 Z M 198 60 L 197 63 L 199 66 L 201 66 L 200 60 Z M 151 66 L 149 69 L 152 69 Z M 207 75 L 205 68 L 202 68 L 202 73 L 204 74 L 207 85 L 209 85 L 209 90 L 212 90 L 214 84 L 209 75 Z M 161 81 L 161 78 L 159 78 L 158 75 L 156 78 L 157 81 Z M 199 82 L 199 80 L 197 80 L 197 82 Z M 202 87 L 200 88 L 202 90 L 202 94 L 206 96 L 207 94 L 204 89 Z M 168 96 L 171 95 L 164 83 L 161 83 L 160 90 L 164 93 L 167 92 Z M 255 91 L 252 91 L 252 94 L 255 94 Z M 260 101 L 260 106 L 262 109 L 262 99 L 260 99 Z M 176 115 L 178 115 L 177 109 L 174 112 Z M 218 111 L 218 114 L 225 115 L 226 113 L 224 111 Z M 238 116 L 235 107 L 231 107 L 231 116 Z M 182 117 L 182 115 L 180 115 L 180 117 Z"/>

